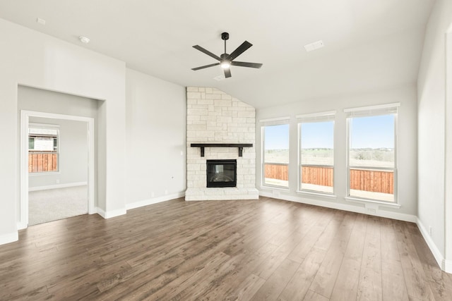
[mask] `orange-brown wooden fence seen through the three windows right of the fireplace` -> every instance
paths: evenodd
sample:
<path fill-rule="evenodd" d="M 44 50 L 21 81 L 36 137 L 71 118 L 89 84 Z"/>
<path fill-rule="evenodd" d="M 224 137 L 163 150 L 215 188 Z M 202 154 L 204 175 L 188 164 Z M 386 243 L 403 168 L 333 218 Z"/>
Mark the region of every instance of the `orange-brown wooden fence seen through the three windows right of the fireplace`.
<path fill-rule="evenodd" d="M 287 164 L 265 164 L 265 177 L 288 180 Z M 302 166 L 303 183 L 333 186 L 333 168 Z M 369 192 L 394 193 L 394 173 L 392 171 L 350 170 L 350 189 Z"/>

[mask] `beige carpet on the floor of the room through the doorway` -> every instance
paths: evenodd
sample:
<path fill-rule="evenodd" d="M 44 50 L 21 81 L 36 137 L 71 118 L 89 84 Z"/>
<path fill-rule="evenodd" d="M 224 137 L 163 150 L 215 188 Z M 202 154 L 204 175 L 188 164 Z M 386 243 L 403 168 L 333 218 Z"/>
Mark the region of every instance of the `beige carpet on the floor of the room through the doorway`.
<path fill-rule="evenodd" d="M 88 185 L 28 192 L 28 226 L 88 214 Z"/>

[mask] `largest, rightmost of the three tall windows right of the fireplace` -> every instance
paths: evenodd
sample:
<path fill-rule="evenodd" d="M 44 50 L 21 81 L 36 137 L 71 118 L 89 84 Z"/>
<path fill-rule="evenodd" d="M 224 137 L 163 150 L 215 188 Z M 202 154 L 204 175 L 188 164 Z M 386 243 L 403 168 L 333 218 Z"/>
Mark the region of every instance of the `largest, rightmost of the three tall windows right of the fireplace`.
<path fill-rule="evenodd" d="M 398 105 L 345 110 L 349 197 L 396 202 Z"/>

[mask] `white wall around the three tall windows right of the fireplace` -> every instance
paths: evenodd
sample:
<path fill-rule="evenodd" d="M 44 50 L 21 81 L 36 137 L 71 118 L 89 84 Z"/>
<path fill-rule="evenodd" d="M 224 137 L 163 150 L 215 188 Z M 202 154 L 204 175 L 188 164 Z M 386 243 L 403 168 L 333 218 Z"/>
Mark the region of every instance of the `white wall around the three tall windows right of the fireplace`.
<path fill-rule="evenodd" d="M 346 201 L 345 178 L 347 168 L 345 163 L 346 152 L 346 121 L 344 109 L 372 106 L 377 104 L 390 104 L 400 102 L 398 113 L 398 204 L 400 208 L 379 207 L 376 214 L 395 219 L 415 221 L 417 213 L 417 103 L 415 85 L 404 85 L 392 90 L 374 92 L 368 94 L 350 94 L 323 99 L 312 99 L 307 102 L 299 102 L 284 106 L 275 106 L 266 109 L 258 109 L 256 115 L 256 183 L 263 195 L 275 195 L 281 199 L 290 199 L 299 202 L 309 202 L 321 206 L 345 209 L 369 213 L 364 209 L 364 204 Z M 334 190 L 336 198 L 314 197 L 312 195 L 297 194 L 297 149 L 298 128 L 295 118 L 298 114 L 316 113 L 336 110 L 335 137 L 334 137 Z M 290 190 L 270 190 L 261 187 L 261 125 L 259 121 L 267 118 L 290 116 Z"/>

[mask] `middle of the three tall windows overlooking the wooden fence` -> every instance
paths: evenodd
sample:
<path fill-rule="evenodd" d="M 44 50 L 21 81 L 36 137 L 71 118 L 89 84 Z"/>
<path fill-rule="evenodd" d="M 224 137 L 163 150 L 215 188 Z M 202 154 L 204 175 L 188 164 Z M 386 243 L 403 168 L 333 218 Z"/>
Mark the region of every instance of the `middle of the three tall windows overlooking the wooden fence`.
<path fill-rule="evenodd" d="M 333 193 L 335 111 L 297 116 L 299 190 Z"/>

